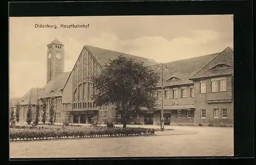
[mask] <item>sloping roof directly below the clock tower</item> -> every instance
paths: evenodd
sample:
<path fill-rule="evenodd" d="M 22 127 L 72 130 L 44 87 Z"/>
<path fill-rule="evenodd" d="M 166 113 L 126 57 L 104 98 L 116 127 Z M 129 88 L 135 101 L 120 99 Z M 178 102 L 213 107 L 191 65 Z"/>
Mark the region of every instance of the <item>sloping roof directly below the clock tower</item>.
<path fill-rule="evenodd" d="M 42 88 L 44 89 L 44 96 L 42 97 L 61 96 L 61 90 L 66 84 L 70 73 L 71 71 L 58 74 L 56 77 L 50 80 L 46 86 Z"/>

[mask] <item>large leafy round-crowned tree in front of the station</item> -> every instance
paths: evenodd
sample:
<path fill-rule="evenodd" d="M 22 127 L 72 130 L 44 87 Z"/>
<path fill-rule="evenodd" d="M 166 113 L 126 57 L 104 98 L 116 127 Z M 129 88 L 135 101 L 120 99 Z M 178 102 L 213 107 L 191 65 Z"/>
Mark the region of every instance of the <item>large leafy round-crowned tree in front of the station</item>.
<path fill-rule="evenodd" d="M 102 72 L 93 78 L 94 99 L 99 106 L 113 105 L 116 113 L 122 115 L 125 128 L 130 115 L 140 112 L 141 107 L 156 109 L 157 99 L 151 93 L 159 78 L 158 73 L 143 62 L 119 56 L 109 60 Z"/>

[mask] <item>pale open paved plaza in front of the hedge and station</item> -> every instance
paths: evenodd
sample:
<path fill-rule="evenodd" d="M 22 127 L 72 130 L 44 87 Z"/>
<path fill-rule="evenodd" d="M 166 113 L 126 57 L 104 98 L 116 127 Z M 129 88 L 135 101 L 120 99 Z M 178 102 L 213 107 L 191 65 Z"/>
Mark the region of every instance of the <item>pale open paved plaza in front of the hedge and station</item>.
<path fill-rule="evenodd" d="M 143 125 L 140 127 L 158 128 L 159 126 Z M 115 137 L 109 139 L 11 142 L 10 157 L 169 157 L 233 155 L 233 128 L 193 126 L 166 126 L 165 128 L 173 128 L 175 129 L 174 132 L 197 133 Z M 172 131 L 165 131 L 166 134 L 168 134 L 168 132 Z"/>

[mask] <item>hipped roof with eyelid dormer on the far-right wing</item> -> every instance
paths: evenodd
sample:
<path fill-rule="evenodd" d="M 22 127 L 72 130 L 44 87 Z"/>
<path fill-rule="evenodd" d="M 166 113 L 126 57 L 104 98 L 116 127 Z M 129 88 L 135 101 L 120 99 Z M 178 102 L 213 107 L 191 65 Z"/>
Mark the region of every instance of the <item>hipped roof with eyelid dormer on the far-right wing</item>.
<path fill-rule="evenodd" d="M 223 68 L 215 68 L 224 65 Z M 227 47 L 218 56 L 207 63 L 202 69 L 190 77 L 191 80 L 233 74 L 233 48 Z"/>

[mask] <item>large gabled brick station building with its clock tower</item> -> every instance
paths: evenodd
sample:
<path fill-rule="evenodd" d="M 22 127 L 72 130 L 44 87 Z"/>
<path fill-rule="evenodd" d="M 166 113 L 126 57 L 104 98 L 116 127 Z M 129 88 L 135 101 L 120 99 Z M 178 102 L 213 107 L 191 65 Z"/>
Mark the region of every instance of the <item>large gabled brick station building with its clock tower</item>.
<path fill-rule="evenodd" d="M 35 107 L 37 98 L 48 100 L 49 111 L 49 99 L 54 97 L 55 122 L 91 123 L 93 117 L 98 117 L 99 122 L 121 123 L 122 116 L 116 114 L 113 107 L 98 107 L 92 99 L 92 77 L 101 72 L 109 59 L 121 55 L 142 61 L 159 73 L 155 96 L 163 106 L 165 124 L 233 123 L 233 50 L 230 47 L 219 53 L 158 64 L 152 59 L 86 45 L 72 71 L 63 72 L 64 45 L 55 39 L 47 46 L 47 84 L 43 88 L 32 88 L 20 99 L 24 111 L 20 115 L 26 114 L 29 101 Z M 130 117 L 129 123 L 156 124 L 160 121 L 161 108 L 159 111 L 142 109 Z M 25 118 L 22 119 L 26 121 Z"/>

